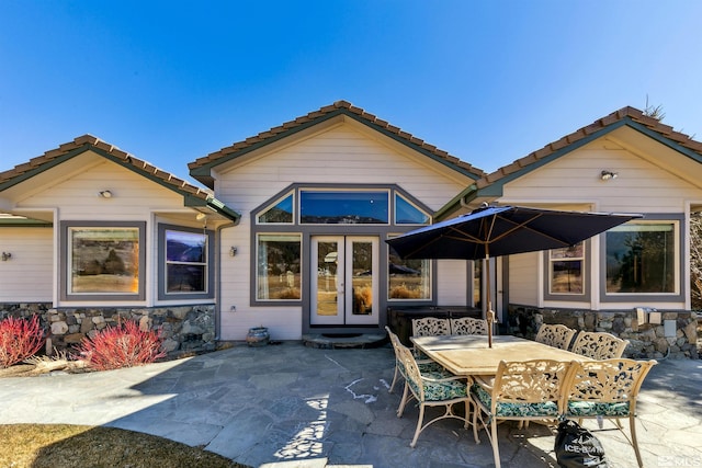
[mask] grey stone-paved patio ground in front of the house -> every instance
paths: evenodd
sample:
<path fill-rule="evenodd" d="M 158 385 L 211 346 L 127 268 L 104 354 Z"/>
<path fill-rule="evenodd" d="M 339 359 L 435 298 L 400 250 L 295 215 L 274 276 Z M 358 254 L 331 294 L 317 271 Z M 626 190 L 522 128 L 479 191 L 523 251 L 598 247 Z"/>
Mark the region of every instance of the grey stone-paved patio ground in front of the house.
<path fill-rule="evenodd" d="M 491 466 L 487 438 L 476 445 L 457 421 L 434 424 L 409 447 L 417 408 L 395 414 L 401 386 L 387 391 L 394 359 L 389 345 L 329 350 L 284 342 L 103 373 L 8 377 L 0 379 L 0 423 L 122 427 L 203 445 L 253 467 L 312 467 L 325 459 L 375 468 Z M 641 392 L 637 433 L 645 466 L 702 467 L 702 361 L 654 367 Z M 596 434 L 612 468 L 636 466 L 619 431 Z M 503 466 L 555 466 L 546 427 L 503 424 L 499 436 Z"/>

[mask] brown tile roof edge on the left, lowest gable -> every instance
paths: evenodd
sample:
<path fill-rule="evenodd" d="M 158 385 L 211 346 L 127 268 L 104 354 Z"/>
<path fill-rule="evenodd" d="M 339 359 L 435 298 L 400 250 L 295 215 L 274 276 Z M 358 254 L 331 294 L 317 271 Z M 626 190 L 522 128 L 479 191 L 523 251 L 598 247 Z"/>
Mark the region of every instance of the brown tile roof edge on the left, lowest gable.
<path fill-rule="evenodd" d="M 18 164 L 13 169 L 0 172 L 0 191 L 10 186 L 13 180 L 19 182 L 31 178 L 32 175 L 43 171 L 45 168 L 49 168 L 53 162 L 56 162 L 56 160 L 80 149 L 94 149 L 98 150 L 99 153 L 107 155 L 116 159 L 120 163 L 129 167 L 135 172 L 155 180 L 183 196 L 191 196 L 205 202 L 204 205 L 212 205 L 213 201 L 216 202 L 214 194 L 210 190 L 192 185 L 170 172 L 163 171 L 147 161 L 138 159 L 135 156 L 121 150 L 116 146 L 110 145 L 109 142 L 92 135 L 77 137 L 72 141 L 59 145 L 58 148 L 48 150 L 36 158 L 32 158 L 23 164 Z M 8 183 L 10 185 L 8 185 Z"/>

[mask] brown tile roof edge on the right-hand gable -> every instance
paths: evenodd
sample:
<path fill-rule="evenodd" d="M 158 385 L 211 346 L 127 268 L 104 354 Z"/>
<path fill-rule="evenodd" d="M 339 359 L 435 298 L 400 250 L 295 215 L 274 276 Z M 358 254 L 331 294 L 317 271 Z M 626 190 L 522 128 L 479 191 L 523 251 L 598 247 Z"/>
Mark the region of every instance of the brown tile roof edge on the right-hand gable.
<path fill-rule="evenodd" d="M 499 168 L 495 172 L 491 172 L 476 181 L 475 185 L 477 190 L 484 189 L 510 174 L 513 174 L 514 172 L 524 170 L 529 165 L 534 164 L 535 162 L 553 155 L 554 152 L 563 148 L 566 148 L 569 145 L 588 138 L 592 134 L 605 129 L 607 127 L 610 127 L 624 119 L 641 124 L 645 128 L 656 132 L 665 138 L 668 138 L 669 140 L 672 140 L 676 144 L 682 146 L 683 148 L 690 149 L 702 156 L 702 142 L 693 140 L 689 135 L 673 130 L 671 126 L 665 125 L 659 119 L 646 115 L 643 111 L 627 106 L 622 107 L 605 117 L 597 119 L 590 125 L 579 128 L 556 141 L 550 142 L 543 148 L 533 151 L 530 155 L 518 159 L 510 164 Z"/>

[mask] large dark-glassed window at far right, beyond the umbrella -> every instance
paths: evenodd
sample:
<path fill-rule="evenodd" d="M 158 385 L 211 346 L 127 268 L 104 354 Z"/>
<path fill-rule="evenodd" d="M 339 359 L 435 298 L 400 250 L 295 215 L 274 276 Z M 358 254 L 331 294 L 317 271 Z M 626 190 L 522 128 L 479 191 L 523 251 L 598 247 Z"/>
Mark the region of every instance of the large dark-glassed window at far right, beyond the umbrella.
<path fill-rule="evenodd" d="M 607 236 L 607 294 L 675 294 L 678 222 L 630 222 Z"/>

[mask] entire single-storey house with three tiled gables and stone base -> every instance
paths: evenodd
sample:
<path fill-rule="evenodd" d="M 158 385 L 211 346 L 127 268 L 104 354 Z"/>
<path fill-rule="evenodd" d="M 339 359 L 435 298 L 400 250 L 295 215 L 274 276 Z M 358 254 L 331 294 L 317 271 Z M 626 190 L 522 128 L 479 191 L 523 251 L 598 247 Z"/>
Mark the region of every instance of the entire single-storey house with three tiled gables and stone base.
<path fill-rule="evenodd" d="M 631 107 L 490 174 L 344 101 L 191 162 L 204 187 L 83 136 L 0 173 L 0 311 L 42 311 L 61 344 L 135 318 L 174 352 L 254 327 L 299 340 L 380 332 L 388 310 L 479 313 L 490 281 L 505 332 L 566 321 L 632 355 L 693 355 L 701 162 L 702 144 Z M 494 259 L 492 278 L 385 242 L 483 203 L 645 216 Z"/>

